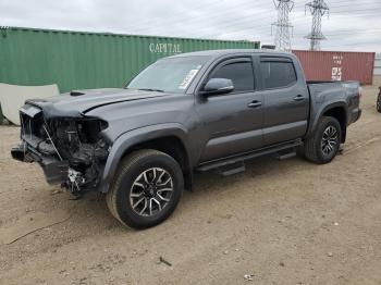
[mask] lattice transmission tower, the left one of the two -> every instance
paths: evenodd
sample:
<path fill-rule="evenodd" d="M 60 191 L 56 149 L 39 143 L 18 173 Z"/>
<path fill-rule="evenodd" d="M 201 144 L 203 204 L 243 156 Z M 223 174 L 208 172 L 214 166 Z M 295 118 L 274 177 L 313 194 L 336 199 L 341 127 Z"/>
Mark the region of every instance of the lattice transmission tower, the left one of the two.
<path fill-rule="evenodd" d="M 274 0 L 278 10 L 278 21 L 272 24 L 275 26 L 275 41 L 276 49 L 291 50 L 291 29 L 293 26 L 290 23 L 288 14 L 294 8 L 292 0 Z"/>

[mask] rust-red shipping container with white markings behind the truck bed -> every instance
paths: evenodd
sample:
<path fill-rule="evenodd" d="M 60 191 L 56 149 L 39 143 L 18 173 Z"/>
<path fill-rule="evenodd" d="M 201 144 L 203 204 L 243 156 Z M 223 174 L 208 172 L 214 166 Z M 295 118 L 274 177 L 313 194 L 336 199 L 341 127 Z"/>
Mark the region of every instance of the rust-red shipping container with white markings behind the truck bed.
<path fill-rule="evenodd" d="M 307 80 L 358 80 L 372 84 L 374 52 L 294 50 Z"/>

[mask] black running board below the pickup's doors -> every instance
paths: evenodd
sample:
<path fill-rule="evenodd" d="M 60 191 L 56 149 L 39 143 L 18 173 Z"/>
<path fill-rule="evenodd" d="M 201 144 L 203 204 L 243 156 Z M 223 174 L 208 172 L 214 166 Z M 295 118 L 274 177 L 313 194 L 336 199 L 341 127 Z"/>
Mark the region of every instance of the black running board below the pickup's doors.
<path fill-rule="evenodd" d="M 233 156 L 233 157 L 229 157 L 229 158 L 224 158 L 224 159 L 204 162 L 196 169 L 196 171 L 205 172 L 205 171 L 209 171 L 209 170 L 213 170 L 213 169 L 223 168 L 226 165 L 232 165 L 235 163 L 242 163 L 245 160 L 275 153 L 275 152 L 279 152 L 279 151 L 282 151 L 285 149 L 293 149 L 292 153 L 294 154 L 294 148 L 297 146 L 300 146 L 300 145 L 302 145 L 302 139 L 297 139 L 297 140 L 293 140 L 293 141 L 285 142 L 282 145 L 276 145 L 276 146 L 273 146 L 270 148 L 263 148 L 260 150 L 245 152 L 242 154 L 237 154 L 237 156 Z"/>

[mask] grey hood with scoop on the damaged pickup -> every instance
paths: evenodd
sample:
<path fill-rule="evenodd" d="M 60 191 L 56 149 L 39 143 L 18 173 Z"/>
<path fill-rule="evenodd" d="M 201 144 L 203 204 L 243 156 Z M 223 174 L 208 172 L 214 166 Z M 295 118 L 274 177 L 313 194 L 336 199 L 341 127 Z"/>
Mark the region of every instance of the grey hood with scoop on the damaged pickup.
<path fill-rule="evenodd" d="M 25 103 L 36 106 L 42 109 L 47 119 L 51 117 L 78 117 L 86 112 L 100 108 L 102 106 L 113 104 L 118 102 L 144 100 L 155 97 L 161 97 L 165 94 L 142 91 L 133 89 L 88 89 L 79 90 L 83 95 L 73 96 L 63 94 L 47 99 L 32 99 Z"/>

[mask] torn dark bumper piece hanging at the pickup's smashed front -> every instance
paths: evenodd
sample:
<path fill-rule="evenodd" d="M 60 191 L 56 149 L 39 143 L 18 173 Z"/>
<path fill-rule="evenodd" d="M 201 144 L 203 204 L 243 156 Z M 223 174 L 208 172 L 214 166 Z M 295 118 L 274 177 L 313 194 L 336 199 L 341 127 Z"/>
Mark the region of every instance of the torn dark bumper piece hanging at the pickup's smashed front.
<path fill-rule="evenodd" d="M 69 162 L 60 161 L 54 157 L 47 157 L 23 141 L 11 150 L 12 158 L 23 162 L 38 162 L 42 168 L 47 182 L 51 185 L 67 181 Z"/>

